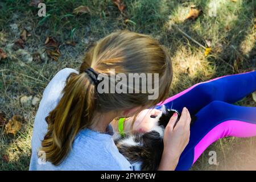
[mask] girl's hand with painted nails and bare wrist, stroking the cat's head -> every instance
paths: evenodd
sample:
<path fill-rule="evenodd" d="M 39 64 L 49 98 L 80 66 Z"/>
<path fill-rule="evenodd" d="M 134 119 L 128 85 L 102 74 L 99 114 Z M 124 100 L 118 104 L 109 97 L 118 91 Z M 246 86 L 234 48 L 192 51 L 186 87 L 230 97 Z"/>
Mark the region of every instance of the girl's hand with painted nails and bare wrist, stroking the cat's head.
<path fill-rule="evenodd" d="M 177 114 L 175 113 L 164 130 L 164 151 L 159 170 L 174 170 L 181 152 L 188 144 L 191 122 L 188 109 L 184 107 L 177 123 L 176 120 Z"/>

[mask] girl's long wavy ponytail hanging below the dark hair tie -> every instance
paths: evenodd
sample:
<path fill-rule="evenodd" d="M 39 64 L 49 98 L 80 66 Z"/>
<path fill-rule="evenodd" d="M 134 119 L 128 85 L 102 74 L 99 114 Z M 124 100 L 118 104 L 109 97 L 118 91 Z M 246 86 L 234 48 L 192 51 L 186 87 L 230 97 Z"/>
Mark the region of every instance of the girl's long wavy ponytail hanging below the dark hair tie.
<path fill-rule="evenodd" d="M 42 141 L 47 161 L 58 165 L 71 150 L 73 140 L 81 128 L 92 123 L 96 110 L 95 86 L 85 72 L 71 73 L 63 89 L 63 97 L 46 121 L 48 131 Z"/>

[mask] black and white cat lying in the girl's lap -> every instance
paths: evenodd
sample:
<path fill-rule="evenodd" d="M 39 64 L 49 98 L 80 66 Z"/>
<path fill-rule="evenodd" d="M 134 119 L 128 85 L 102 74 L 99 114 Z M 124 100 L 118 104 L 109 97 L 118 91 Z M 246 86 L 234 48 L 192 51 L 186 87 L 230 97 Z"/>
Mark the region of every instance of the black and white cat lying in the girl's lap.
<path fill-rule="evenodd" d="M 119 152 L 131 163 L 135 170 L 154 171 L 160 164 L 163 153 L 163 134 L 170 118 L 176 110 L 162 107 L 162 114 L 155 117 L 158 122 L 147 133 L 126 134 L 125 137 L 115 135 L 114 142 Z M 191 116 L 191 123 L 195 116 Z M 176 121 L 176 122 L 177 122 Z"/>

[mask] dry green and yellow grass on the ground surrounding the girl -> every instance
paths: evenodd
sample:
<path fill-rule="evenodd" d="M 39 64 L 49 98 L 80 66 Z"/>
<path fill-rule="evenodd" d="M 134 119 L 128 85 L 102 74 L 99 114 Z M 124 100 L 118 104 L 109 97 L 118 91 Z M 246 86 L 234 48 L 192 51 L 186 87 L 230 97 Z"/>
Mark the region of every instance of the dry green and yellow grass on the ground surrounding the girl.
<path fill-rule="evenodd" d="M 81 56 L 94 41 L 117 29 L 150 34 L 170 50 L 174 64 L 174 82 L 170 95 L 217 76 L 250 71 L 256 68 L 255 58 L 255 2 L 233 1 L 158 1 L 127 0 L 123 13 L 110 0 L 45 1 L 47 17 L 37 16 L 38 9 L 28 6 L 30 1 L 3 0 L 0 2 L 0 48 L 8 53 L 0 61 L 0 111 L 11 118 L 14 114 L 26 118 L 22 130 L 15 136 L 6 135 L 0 128 L 0 169 L 27 170 L 31 155 L 30 140 L 38 105 L 26 106 L 21 96 L 38 96 L 48 81 L 62 68 L 79 68 Z M 217 16 L 210 17 L 209 5 L 217 3 Z M 80 5 L 92 13 L 74 15 Z M 195 21 L 185 20 L 190 6 L 196 5 L 203 13 Z M 129 19 L 125 23 L 125 20 Z M 18 32 L 11 30 L 16 23 Z M 204 49 L 181 34 L 179 27 L 197 42 L 212 44 L 213 51 L 204 56 Z M 23 28 L 30 28 L 31 36 L 24 49 L 31 54 L 44 50 L 44 40 L 53 36 L 59 43 L 58 61 L 45 59 L 24 63 L 10 44 L 19 38 Z M 66 46 L 67 40 L 76 46 Z M 256 106 L 251 96 L 237 103 Z M 218 166 L 208 163 L 209 151 L 217 152 Z M 2 156 L 8 156 L 9 162 Z M 256 138 L 224 138 L 212 144 L 193 166 L 192 170 L 255 169 Z"/>

